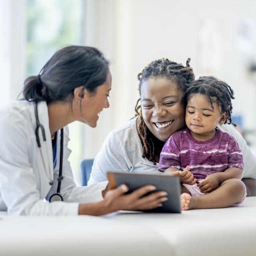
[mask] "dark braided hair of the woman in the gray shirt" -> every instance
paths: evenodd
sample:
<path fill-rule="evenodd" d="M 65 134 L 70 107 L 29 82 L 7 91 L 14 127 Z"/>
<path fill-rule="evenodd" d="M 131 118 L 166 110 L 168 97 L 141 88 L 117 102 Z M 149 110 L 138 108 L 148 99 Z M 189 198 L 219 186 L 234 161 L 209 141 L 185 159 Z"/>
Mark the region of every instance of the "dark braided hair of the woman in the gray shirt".
<path fill-rule="evenodd" d="M 139 92 L 142 83 L 150 78 L 166 78 L 167 80 L 175 82 L 178 89 L 185 92 L 188 84 L 195 78 L 193 69 L 190 67 L 189 63 L 190 58 L 186 61 L 186 67 L 165 58 L 152 61 L 138 74 L 138 80 L 140 81 Z M 142 157 L 156 164 L 155 147 L 152 140 L 154 135 L 150 132 L 143 120 L 141 104 L 139 104 L 139 102 L 140 98 L 135 106 L 135 116 L 139 116 L 137 130 L 142 142 Z"/>

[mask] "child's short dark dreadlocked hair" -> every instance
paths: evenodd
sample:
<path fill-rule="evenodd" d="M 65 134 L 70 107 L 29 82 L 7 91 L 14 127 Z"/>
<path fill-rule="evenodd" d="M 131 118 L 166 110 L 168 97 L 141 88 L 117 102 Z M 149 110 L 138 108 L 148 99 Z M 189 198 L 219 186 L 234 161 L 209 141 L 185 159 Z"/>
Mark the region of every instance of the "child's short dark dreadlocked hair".
<path fill-rule="evenodd" d="M 212 106 L 212 97 L 216 98 L 216 104 L 221 107 L 222 112 L 226 112 L 227 118 L 224 124 L 231 124 L 232 102 L 234 99 L 234 91 L 223 81 L 213 76 L 202 76 L 198 80 L 192 82 L 185 94 L 182 96 L 182 103 L 186 106 L 189 99 L 194 94 L 202 94 L 206 96 Z M 212 106 L 212 108 L 214 108 Z"/>

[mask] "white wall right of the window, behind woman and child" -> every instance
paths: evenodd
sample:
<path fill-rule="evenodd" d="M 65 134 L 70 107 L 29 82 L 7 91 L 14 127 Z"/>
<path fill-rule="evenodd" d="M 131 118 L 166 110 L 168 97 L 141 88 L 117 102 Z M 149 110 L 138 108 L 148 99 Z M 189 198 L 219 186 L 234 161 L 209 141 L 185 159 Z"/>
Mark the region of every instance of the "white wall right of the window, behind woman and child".
<path fill-rule="evenodd" d="M 250 50 L 240 49 L 237 36 L 240 20 L 246 20 L 252 24 L 251 42 L 253 46 L 256 45 L 256 1 L 93 2 L 96 4 L 94 14 L 97 15 L 92 18 L 97 20 L 98 25 L 91 32 L 94 34 L 94 45 L 105 50 L 107 57 L 112 60 L 113 89 L 111 110 L 104 110 L 108 114 L 104 113 L 100 117 L 98 128 L 94 131 L 94 137 L 98 139 L 90 154 L 85 154 L 85 157 L 94 157 L 108 132 L 134 115 L 134 106 L 139 96 L 137 74 L 149 62 L 162 57 L 183 64 L 190 57 L 190 64 L 197 77 L 212 74 L 228 82 L 236 96 L 234 114 L 243 116 L 244 128 L 256 127 L 256 84 L 247 73 L 249 61 L 256 59 L 256 47 Z M 213 40 L 211 34 L 202 34 L 200 26 L 203 21 L 215 29 L 216 36 L 213 36 Z M 88 23 L 88 26 L 91 25 Z M 204 38 L 207 38 L 208 44 L 212 44 L 208 54 L 201 47 Z M 108 47 L 104 49 L 106 45 Z M 108 56 L 110 48 L 112 52 Z M 203 68 L 202 63 L 207 61 Z"/>

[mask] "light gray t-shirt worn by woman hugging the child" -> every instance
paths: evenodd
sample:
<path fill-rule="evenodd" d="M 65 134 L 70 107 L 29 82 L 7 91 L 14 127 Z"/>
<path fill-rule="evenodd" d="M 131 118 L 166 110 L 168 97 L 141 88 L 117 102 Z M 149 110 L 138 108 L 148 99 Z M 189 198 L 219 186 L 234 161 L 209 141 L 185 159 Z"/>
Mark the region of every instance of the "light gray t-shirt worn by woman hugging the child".
<path fill-rule="evenodd" d="M 142 144 L 136 129 L 136 119 L 110 132 L 92 166 L 88 185 L 107 180 L 107 172 L 133 172 L 160 174 L 158 163 L 154 165 L 142 158 Z M 232 135 L 243 153 L 244 178 L 256 179 L 256 157 L 248 148 L 242 135 L 230 124 L 218 125 L 223 132 Z"/>

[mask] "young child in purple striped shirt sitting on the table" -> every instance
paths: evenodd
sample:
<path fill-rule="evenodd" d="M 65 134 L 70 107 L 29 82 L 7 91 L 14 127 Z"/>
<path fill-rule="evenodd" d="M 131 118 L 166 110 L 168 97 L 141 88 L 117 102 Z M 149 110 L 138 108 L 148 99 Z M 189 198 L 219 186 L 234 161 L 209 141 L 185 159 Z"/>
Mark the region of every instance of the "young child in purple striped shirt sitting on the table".
<path fill-rule="evenodd" d="M 187 127 L 167 140 L 158 166 L 180 175 L 182 210 L 237 206 L 246 197 L 241 150 L 217 128 L 231 124 L 233 94 L 228 84 L 206 76 L 194 81 L 182 98 Z"/>

